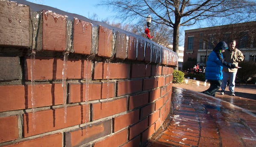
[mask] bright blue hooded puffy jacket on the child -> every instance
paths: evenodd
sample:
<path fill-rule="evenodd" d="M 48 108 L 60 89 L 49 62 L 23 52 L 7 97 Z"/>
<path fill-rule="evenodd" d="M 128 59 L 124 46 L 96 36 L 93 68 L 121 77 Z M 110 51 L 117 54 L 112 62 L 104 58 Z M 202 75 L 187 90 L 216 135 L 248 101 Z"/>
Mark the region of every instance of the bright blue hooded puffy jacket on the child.
<path fill-rule="evenodd" d="M 206 63 L 205 79 L 212 80 L 212 81 L 222 80 L 223 66 L 227 68 L 235 68 L 235 64 L 227 63 L 223 59 L 223 55 L 221 51 L 227 48 L 228 48 L 227 43 L 225 43 L 224 41 L 219 42 L 214 47 Z"/>

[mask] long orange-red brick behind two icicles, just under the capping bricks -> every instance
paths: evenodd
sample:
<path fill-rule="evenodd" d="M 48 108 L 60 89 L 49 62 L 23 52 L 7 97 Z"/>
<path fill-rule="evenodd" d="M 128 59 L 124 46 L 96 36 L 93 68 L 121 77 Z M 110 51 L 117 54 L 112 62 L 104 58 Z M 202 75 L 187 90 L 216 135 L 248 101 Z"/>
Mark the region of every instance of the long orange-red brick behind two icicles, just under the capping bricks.
<path fill-rule="evenodd" d="M 31 80 L 32 59 L 26 59 L 26 79 Z M 91 64 L 88 61 L 69 59 L 67 61 L 67 79 L 81 79 L 91 77 Z M 61 58 L 38 58 L 35 59 L 35 79 L 62 79 L 64 61 Z"/>

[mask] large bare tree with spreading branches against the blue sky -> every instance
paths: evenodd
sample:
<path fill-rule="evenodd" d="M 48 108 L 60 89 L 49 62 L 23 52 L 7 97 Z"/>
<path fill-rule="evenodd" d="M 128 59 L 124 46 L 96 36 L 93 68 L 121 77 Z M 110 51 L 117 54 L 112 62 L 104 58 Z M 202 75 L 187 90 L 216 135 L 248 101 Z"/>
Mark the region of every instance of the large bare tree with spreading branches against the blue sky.
<path fill-rule="evenodd" d="M 100 5 L 111 6 L 123 20 L 142 22 L 151 14 L 152 22 L 172 27 L 175 52 L 180 26 L 191 26 L 202 20 L 215 25 L 256 19 L 254 0 L 103 0 Z"/>

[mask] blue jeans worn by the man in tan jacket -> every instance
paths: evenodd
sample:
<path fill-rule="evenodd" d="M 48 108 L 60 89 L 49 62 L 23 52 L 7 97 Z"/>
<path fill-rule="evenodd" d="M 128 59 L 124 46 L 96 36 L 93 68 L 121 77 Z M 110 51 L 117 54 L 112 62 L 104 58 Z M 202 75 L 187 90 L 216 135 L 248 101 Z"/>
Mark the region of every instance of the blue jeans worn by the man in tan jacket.
<path fill-rule="evenodd" d="M 235 80 L 236 80 L 236 72 L 223 72 L 223 79 L 221 83 L 221 90 L 224 91 L 227 86 L 227 79 L 229 78 L 229 91 L 235 92 Z"/>

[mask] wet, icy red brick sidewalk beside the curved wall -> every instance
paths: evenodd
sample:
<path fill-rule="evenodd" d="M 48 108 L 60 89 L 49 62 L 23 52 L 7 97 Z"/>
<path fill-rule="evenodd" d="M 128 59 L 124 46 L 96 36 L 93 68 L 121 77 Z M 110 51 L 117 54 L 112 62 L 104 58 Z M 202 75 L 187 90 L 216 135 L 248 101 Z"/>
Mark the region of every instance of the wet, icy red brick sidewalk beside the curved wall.
<path fill-rule="evenodd" d="M 189 88 L 184 89 L 186 86 Z M 241 94 L 249 92 L 254 100 L 211 97 L 200 93 L 208 86 L 173 84 L 171 115 L 147 147 L 256 147 L 256 89 L 241 88 Z"/>

